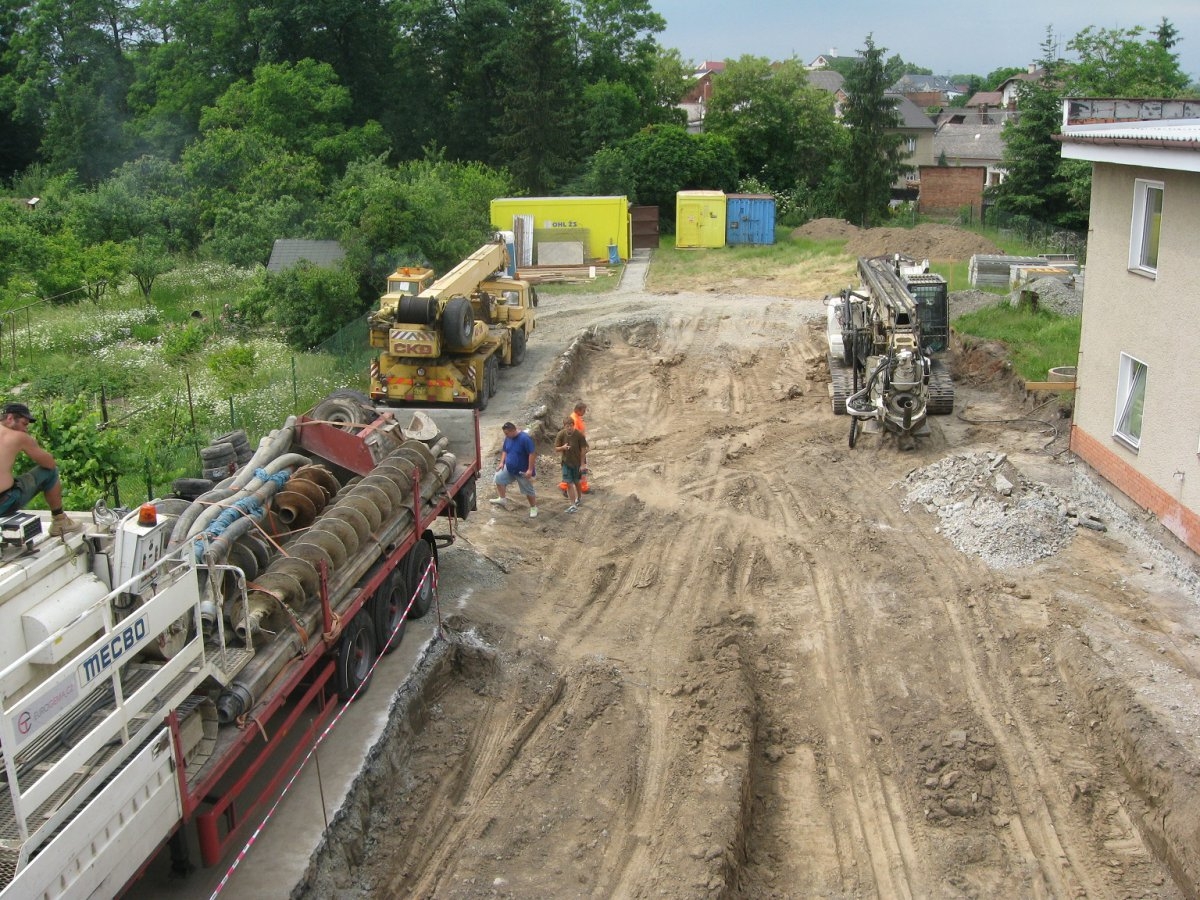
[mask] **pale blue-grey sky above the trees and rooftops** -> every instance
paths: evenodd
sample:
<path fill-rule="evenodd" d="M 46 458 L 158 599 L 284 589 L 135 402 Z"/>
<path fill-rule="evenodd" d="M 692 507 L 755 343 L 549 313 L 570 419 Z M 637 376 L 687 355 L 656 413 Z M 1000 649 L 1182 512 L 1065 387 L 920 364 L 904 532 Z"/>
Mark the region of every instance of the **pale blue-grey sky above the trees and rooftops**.
<path fill-rule="evenodd" d="M 836 48 L 857 55 L 874 36 L 887 55 L 931 68 L 934 74 L 985 76 L 1002 66 L 1026 66 L 1042 55 L 1046 26 L 1060 53 L 1088 25 L 1152 31 L 1165 16 L 1178 30 L 1180 66 L 1200 80 L 1200 0 L 1007 0 L 948 4 L 929 0 L 650 0 L 666 20 L 659 43 L 684 60 L 773 60 L 809 62 Z"/>

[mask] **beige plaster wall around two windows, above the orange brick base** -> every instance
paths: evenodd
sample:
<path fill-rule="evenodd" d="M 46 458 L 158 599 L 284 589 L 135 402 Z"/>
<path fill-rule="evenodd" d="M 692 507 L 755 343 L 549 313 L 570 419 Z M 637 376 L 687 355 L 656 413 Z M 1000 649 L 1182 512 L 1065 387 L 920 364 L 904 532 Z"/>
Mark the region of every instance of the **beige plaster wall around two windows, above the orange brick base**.
<path fill-rule="evenodd" d="M 1136 178 L 1164 185 L 1157 278 L 1128 268 Z M 1075 427 L 1192 514 L 1200 512 L 1198 235 L 1200 174 L 1096 163 Z M 1148 366 L 1138 451 L 1112 437 L 1122 352 Z"/>

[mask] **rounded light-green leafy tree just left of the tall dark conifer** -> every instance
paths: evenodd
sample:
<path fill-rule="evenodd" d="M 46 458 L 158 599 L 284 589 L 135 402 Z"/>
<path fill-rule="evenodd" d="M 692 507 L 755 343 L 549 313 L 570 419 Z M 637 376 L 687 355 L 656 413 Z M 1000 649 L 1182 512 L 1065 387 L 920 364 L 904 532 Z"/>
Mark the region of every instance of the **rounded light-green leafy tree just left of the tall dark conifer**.
<path fill-rule="evenodd" d="M 833 96 L 811 86 L 796 59 L 742 56 L 713 79 L 704 131 L 728 138 L 740 174 L 774 190 L 822 181 L 840 128 Z"/>

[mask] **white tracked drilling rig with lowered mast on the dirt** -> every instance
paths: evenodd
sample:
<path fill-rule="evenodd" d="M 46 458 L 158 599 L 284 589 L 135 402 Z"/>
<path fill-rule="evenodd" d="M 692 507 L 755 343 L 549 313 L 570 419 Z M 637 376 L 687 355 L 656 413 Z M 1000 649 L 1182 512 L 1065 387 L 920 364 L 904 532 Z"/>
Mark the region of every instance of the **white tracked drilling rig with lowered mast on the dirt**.
<path fill-rule="evenodd" d="M 860 257 L 862 284 L 826 298 L 833 412 L 901 445 L 929 433 L 928 416 L 954 412 L 954 384 L 938 354 L 949 344 L 946 280 L 900 254 Z"/>

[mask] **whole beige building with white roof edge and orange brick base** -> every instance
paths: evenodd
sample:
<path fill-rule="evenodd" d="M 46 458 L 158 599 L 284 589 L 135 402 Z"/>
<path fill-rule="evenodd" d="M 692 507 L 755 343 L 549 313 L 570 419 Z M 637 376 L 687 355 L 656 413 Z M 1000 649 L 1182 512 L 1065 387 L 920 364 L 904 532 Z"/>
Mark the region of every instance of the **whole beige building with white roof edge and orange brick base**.
<path fill-rule="evenodd" d="M 1067 100 L 1057 138 L 1092 163 L 1070 449 L 1200 552 L 1200 104 Z"/>

